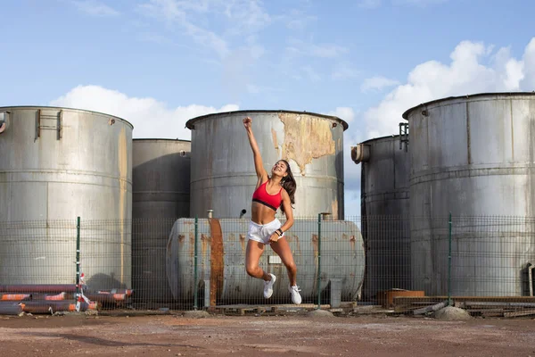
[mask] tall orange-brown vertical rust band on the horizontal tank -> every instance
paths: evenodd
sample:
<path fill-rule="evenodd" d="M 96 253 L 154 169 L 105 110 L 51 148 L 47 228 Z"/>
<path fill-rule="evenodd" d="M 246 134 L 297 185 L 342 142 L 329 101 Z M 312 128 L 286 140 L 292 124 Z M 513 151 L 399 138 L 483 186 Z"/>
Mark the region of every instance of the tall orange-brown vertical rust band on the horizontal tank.
<path fill-rule="evenodd" d="M 225 275 L 223 233 L 218 219 L 210 218 L 210 306 L 216 306 Z"/>

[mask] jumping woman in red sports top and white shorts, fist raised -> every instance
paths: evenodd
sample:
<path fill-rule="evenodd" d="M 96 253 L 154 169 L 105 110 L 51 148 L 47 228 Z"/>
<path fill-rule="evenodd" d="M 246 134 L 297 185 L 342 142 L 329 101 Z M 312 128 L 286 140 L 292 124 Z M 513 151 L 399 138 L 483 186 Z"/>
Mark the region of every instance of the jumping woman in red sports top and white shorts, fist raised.
<path fill-rule="evenodd" d="M 252 195 L 251 204 L 251 222 L 247 232 L 247 253 L 245 258 L 245 269 L 247 274 L 253 278 L 264 280 L 264 297 L 269 298 L 273 295 L 273 285 L 276 276 L 265 272 L 259 267 L 260 255 L 264 253 L 264 246 L 271 245 L 271 248 L 281 257 L 286 270 L 290 284 L 288 290 L 292 295 L 292 302 L 301 303 L 300 289 L 297 286 L 297 267 L 293 262 L 290 245 L 284 237 L 284 232 L 293 225 L 292 203 L 295 194 L 295 179 L 293 179 L 290 164 L 285 160 L 279 160 L 271 168 L 271 177 L 264 169 L 262 157 L 259 152 L 259 145 L 252 134 L 251 118 L 243 119 L 243 125 L 247 130 L 249 143 L 251 144 L 254 158 L 254 168 L 257 172 L 258 181 Z M 275 218 L 277 208 L 281 207 L 286 221 L 284 225 Z"/>

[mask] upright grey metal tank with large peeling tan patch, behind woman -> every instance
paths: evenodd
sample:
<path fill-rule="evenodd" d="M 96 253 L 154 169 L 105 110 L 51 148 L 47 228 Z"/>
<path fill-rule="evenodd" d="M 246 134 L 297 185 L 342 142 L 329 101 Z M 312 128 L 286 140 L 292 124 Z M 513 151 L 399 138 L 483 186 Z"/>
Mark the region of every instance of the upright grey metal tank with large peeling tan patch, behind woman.
<path fill-rule="evenodd" d="M 345 121 L 311 112 L 238 111 L 188 120 L 192 130 L 191 217 L 251 217 L 257 183 L 243 118 L 252 119 L 264 167 L 290 162 L 297 182 L 294 217 L 329 212 L 343 220 L 343 131 Z M 243 213 L 244 212 L 244 213 Z M 280 211 L 277 211 L 281 217 Z"/>

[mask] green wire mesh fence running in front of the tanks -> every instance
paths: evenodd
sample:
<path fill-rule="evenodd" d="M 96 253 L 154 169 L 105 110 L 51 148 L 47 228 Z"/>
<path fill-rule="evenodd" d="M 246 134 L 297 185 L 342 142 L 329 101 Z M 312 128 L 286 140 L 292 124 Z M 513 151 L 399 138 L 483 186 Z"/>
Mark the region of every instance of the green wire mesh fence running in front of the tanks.
<path fill-rule="evenodd" d="M 271 246 L 259 261 L 276 275 L 271 298 L 247 274 L 248 227 L 210 218 L 0 223 L 0 312 L 292 305 Z M 535 313 L 535 218 L 318 215 L 296 219 L 285 237 L 303 306 Z"/>

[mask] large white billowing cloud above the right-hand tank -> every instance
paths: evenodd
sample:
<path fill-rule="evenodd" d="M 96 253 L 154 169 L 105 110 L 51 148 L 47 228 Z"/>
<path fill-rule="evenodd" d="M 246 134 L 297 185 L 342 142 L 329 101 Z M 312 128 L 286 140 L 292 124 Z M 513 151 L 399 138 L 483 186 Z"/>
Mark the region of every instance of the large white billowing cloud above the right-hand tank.
<path fill-rule="evenodd" d="M 512 58 L 501 48 L 492 56 L 492 46 L 463 41 L 450 54 L 449 64 L 429 61 L 408 74 L 407 83 L 394 88 L 383 101 L 366 111 L 366 137 L 398 132 L 401 114 L 424 102 L 450 95 L 535 89 L 535 37 L 526 46 L 523 59 Z M 491 62 L 491 64 L 485 64 Z"/>

